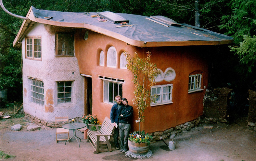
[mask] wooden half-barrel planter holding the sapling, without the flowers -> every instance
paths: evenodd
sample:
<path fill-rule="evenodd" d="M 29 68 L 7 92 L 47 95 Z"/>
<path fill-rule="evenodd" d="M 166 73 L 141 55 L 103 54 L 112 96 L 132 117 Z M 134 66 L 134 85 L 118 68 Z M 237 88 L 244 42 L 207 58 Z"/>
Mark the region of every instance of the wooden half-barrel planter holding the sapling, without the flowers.
<path fill-rule="evenodd" d="M 129 152 L 136 156 L 144 156 L 148 153 L 149 145 L 147 143 L 134 143 L 128 140 Z"/>

